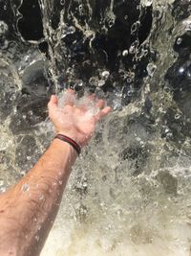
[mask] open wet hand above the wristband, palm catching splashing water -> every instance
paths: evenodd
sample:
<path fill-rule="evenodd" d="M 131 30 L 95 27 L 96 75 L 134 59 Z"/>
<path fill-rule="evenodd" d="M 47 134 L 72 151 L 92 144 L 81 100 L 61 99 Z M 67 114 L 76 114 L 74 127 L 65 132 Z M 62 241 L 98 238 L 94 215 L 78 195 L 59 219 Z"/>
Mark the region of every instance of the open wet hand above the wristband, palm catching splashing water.
<path fill-rule="evenodd" d="M 69 136 L 80 147 L 86 146 L 93 136 L 96 123 L 112 108 L 105 107 L 105 101 L 96 99 L 94 95 L 76 104 L 72 89 L 65 92 L 64 99 L 63 105 L 59 106 L 57 97 L 53 95 L 48 105 L 55 132 Z"/>

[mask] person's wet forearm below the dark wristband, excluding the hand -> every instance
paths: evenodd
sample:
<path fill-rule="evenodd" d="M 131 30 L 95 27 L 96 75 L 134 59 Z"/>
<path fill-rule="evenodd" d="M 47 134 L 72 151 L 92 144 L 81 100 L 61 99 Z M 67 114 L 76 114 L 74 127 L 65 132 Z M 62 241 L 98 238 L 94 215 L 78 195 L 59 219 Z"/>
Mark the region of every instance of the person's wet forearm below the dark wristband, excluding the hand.
<path fill-rule="evenodd" d="M 19 251 L 19 256 L 38 255 L 52 227 L 75 158 L 76 152 L 70 145 L 54 140 L 29 174 L 1 196 L 2 256 L 7 255 L 8 248 Z"/>

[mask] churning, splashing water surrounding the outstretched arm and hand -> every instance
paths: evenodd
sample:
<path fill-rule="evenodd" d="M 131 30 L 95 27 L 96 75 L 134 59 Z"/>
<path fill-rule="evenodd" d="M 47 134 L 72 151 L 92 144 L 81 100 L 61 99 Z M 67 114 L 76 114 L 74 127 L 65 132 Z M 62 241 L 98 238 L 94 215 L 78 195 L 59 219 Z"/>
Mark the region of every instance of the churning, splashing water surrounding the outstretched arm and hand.
<path fill-rule="evenodd" d="M 0 192 L 49 145 L 52 92 L 115 109 L 42 256 L 191 255 L 190 14 L 190 0 L 0 0 Z"/>

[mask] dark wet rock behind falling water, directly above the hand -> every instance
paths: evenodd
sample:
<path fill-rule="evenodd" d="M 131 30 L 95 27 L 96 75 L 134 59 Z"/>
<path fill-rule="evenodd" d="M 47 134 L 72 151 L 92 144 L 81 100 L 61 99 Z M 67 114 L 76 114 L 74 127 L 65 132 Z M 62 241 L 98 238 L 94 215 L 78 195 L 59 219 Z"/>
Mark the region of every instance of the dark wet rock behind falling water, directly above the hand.
<path fill-rule="evenodd" d="M 141 7 L 139 4 L 139 0 L 115 1 L 112 7 L 110 1 L 90 3 L 65 1 L 63 7 L 59 1 L 44 3 L 43 13 L 48 12 L 50 16 L 47 20 L 49 26 L 46 26 L 46 31 L 50 34 L 54 30 L 49 38 L 49 43 L 53 48 L 56 33 L 58 36 L 61 35 L 60 42 L 56 44 L 54 72 L 59 78 L 63 70 L 72 68 L 74 71 L 73 76 L 66 74 L 64 81 L 59 82 L 60 88 L 63 87 L 63 82 L 67 87 L 74 87 L 75 82 L 79 80 L 84 81 L 84 85 L 91 88 L 91 91 L 96 90 L 96 86 L 100 86 L 103 91 L 112 90 L 114 83 L 119 88 L 123 88 L 127 86 L 126 80 L 115 79 L 117 77 L 115 74 L 121 68 L 130 69 L 132 72 L 137 70 L 138 78 L 136 82 L 133 80 L 132 84 L 136 84 L 138 93 L 140 78 L 147 74 L 148 58 L 141 57 L 142 64 L 139 64 L 140 61 L 136 60 L 135 55 L 138 54 L 138 46 L 149 35 L 152 26 L 152 6 Z M 49 9 L 49 6 L 52 8 Z M 63 11 L 63 16 L 61 16 L 63 23 L 60 22 L 58 28 L 57 18 L 61 10 Z M 129 48 L 132 49 L 130 54 Z M 141 56 L 140 53 L 139 56 Z M 62 63 L 62 58 L 65 59 L 64 63 Z M 102 73 L 108 70 L 109 78 L 106 82 L 90 84 L 90 79 L 97 77 L 97 70 Z M 125 93 L 124 90 L 124 95 Z M 123 104 L 128 105 L 129 102 L 129 99 L 125 99 Z"/>

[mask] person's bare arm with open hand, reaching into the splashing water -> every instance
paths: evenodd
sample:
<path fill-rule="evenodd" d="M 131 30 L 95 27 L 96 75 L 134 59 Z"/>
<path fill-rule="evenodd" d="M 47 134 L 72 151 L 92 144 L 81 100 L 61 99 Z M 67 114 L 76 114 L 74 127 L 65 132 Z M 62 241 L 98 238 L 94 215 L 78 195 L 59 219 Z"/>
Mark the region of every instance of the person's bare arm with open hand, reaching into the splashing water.
<path fill-rule="evenodd" d="M 93 135 L 96 122 L 111 108 L 97 101 L 96 106 L 101 110 L 91 115 L 86 105 L 74 105 L 74 91 L 68 90 L 67 95 L 63 107 L 58 107 L 57 98 L 52 97 L 49 115 L 56 134 L 67 135 L 84 147 Z M 54 139 L 28 175 L 0 196 L 0 255 L 39 255 L 76 157 L 72 146 Z"/>

